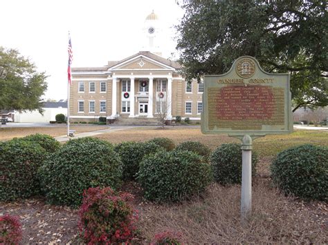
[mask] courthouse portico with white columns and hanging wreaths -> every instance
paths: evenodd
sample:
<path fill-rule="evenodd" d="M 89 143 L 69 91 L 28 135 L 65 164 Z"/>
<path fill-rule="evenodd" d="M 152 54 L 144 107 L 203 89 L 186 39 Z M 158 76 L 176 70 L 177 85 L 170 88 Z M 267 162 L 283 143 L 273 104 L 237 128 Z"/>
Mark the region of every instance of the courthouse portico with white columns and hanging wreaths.
<path fill-rule="evenodd" d="M 161 72 L 153 75 L 138 75 L 131 72 L 129 76 L 113 72 L 107 78 L 111 81 L 111 116 L 117 117 L 156 117 L 165 101 L 167 120 L 172 120 L 172 73 Z M 120 103 L 117 103 L 117 102 Z M 159 106 L 158 106 L 159 105 Z M 156 111 L 157 109 L 157 111 Z"/>

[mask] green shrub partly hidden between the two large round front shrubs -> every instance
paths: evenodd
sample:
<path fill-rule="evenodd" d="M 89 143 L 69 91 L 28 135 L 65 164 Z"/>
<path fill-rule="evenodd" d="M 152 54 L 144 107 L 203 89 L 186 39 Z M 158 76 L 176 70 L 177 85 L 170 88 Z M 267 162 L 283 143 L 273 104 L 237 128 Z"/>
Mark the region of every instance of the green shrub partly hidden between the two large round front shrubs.
<path fill-rule="evenodd" d="M 123 142 L 115 146 L 115 151 L 120 155 L 123 164 L 123 177 L 124 179 L 134 179 L 138 173 L 140 161 L 143 160 L 145 155 L 156 153 L 161 146 L 152 142 Z"/>

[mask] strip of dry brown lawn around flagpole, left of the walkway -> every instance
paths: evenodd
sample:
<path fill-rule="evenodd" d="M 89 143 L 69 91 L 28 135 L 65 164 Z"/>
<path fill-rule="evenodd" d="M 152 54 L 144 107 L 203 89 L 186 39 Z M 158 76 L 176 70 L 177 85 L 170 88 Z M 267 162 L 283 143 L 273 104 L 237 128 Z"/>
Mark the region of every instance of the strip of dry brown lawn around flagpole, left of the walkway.
<path fill-rule="evenodd" d="M 102 130 L 108 128 L 103 125 L 71 125 L 72 130 L 76 130 L 75 133 L 84 133 L 95 130 Z M 0 128 L 0 141 L 5 141 L 15 137 L 24 137 L 26 135 L 33 135 L 36 133 L 51 135 L 57 137 L 60 135 L 66 135 L 66 126 L 49 126 L 44 128 Z"/>

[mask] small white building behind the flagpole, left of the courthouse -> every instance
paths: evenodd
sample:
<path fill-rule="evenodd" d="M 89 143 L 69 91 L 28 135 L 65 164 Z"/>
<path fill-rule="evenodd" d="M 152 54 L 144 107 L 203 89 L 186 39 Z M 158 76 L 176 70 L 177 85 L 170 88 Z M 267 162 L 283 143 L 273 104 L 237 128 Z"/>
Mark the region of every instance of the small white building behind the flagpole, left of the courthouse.
<path fill-rule="evenodd" d="M 49 122 L 55 121 L 57 114 L 64 114 L 67 116 L 67 102 L 44 102 L 43 115 L 39 113 L 39 110 L 33 110 L 32 112 L 15 112 L 15 122 Z"/>

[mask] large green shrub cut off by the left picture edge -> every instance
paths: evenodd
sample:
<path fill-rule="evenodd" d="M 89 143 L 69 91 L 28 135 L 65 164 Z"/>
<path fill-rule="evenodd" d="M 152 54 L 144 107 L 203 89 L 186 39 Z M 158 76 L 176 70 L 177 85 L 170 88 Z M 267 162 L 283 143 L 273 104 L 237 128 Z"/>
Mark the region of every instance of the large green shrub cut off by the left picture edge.
<path fill-rule="evenodd" d="M 39 194 L 37 169 L 46 155 L 44 148 L 22 139 L 0 144 L 0 200 L 10 201 Z"/>

